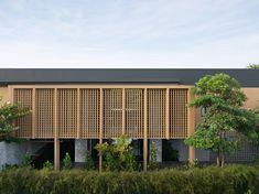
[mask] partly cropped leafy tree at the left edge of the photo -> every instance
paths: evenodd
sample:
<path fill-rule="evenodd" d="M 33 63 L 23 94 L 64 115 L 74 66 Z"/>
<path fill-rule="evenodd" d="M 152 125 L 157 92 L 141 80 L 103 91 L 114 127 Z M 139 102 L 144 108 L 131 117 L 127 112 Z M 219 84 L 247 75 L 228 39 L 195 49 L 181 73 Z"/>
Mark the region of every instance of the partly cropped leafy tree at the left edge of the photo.
<path fill-rule="evenodd" d="M 14 121 L 29 112 L 28 108 L 21 108 L 19 104 L 2 104 L 0 106 L 0 141 L 15 141 L 13 133 L 19 127 L 15 126 Z"/>

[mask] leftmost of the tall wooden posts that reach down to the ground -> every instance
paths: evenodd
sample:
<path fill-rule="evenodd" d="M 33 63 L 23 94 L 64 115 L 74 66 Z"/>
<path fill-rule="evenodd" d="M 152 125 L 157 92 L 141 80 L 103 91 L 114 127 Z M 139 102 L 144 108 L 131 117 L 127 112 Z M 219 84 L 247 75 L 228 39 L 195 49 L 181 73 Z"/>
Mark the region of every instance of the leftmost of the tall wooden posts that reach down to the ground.
<path fill-rule="evenodd" d="M 57 89 L 54 90 L 54 169 L 60 170 L 60 139 L 57 129 Z"/>

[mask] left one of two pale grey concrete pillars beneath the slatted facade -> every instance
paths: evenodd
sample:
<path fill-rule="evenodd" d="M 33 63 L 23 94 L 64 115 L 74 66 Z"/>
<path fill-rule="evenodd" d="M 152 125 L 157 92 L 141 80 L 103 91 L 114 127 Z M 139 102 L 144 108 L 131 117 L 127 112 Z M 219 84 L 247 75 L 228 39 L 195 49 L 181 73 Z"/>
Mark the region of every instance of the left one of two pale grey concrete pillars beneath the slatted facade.
<path fill-rule="evenodd" d="M 85 162 L 85 154 L 87 151 L 87 140 L 75 140 L 75 162 Z"/>

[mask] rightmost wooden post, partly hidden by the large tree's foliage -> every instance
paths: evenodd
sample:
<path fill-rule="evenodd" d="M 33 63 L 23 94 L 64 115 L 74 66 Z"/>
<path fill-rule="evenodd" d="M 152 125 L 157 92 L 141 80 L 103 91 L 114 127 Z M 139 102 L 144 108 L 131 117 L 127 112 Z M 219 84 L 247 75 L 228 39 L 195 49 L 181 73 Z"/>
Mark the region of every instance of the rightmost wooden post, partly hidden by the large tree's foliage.
<path fill-rule="evenodd" d="M 194 98 L 194 95 L 191 93 L 191 88 L 187 91 L 187 103 L 190 103 Z M 187 137 L 194 134 L 195 131 L 195 112 L 193 107 L 187 108 Z M 190 162 L 194 162 L 195 160 L 195 149 L 194 147 L 188 147 L 188 160 Z"/>

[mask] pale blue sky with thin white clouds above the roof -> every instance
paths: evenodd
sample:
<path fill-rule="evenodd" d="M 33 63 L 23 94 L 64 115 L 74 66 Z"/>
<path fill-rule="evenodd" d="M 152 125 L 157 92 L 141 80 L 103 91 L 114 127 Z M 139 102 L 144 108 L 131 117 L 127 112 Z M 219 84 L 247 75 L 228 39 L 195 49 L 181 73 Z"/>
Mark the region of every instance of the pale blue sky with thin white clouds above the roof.
<path fill-rule="evenodd" d="M 242 68 L 258 0 L 0 0 L 0 67 Z"/>

